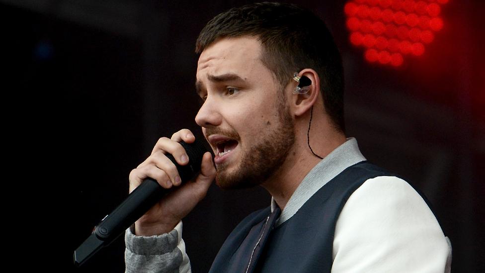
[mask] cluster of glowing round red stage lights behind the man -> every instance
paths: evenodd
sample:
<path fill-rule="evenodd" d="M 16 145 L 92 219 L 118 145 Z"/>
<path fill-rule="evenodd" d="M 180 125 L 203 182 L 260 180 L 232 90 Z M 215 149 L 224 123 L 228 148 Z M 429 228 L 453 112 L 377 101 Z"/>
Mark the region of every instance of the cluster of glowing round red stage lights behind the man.
<path fill-rule="evenodd" d="M 350 0 L 344 5 L 350 42 L 366 48 L 365 59 L 398 67 L 403 55 L 420 56 L 443 28 L 448 0 Z"/>

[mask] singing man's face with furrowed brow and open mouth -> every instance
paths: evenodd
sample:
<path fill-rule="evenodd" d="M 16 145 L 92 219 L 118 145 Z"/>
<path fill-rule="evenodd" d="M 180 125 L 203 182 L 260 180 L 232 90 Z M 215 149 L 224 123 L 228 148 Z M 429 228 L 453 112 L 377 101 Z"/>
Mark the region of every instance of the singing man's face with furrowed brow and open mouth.
<path fill-rule="evenodd" d="M 223 188 L 265 182 L 295 141 L 283 88 L 260 55 L 260 42 L 244 36 L 218 40 L 199 58 L 196 89 L 205 102 L 195 120 L 214 150 Z"/>

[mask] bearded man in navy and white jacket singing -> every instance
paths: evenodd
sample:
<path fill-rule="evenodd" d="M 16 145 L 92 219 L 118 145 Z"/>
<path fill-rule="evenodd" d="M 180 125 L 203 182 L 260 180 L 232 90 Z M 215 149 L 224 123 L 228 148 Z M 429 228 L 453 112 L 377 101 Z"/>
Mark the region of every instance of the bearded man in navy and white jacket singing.
<path fill-rule="evenodd" d="M 180 186 L 187 164 L 161 138 L 130 174 L 179 187 L 126 232 L 127 272 L 190 272 L 181 219 L 212 181 L 261 185 L 271 206 L 231 233 L 211 272 L 445 272 L 450 248 L 423 198 L 404 180 L 368 163 L 346 138 L 338 50 L 323 21 L 297 6 L 257 3 L 212 19 L 197 40 L 195 117 L 211 144 L 201 172 Z M 217 171 L 216 171 L 217 170 Z"/>

